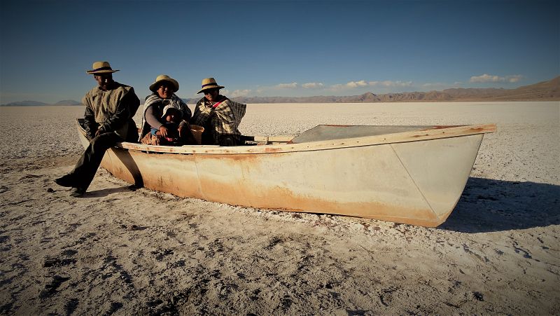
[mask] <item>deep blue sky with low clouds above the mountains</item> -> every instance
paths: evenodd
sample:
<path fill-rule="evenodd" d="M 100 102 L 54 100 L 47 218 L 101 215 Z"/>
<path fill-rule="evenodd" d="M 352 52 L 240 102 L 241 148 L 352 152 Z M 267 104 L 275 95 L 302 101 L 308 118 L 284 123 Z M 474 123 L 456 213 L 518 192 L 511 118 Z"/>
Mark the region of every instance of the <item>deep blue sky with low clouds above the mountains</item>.
<path fill-rule="evenodd" d="M 517 88 L 560 75 L 560 1 L 0 1 L 0 104 L 80 101 L 102 60 L 141 100 Z"/>

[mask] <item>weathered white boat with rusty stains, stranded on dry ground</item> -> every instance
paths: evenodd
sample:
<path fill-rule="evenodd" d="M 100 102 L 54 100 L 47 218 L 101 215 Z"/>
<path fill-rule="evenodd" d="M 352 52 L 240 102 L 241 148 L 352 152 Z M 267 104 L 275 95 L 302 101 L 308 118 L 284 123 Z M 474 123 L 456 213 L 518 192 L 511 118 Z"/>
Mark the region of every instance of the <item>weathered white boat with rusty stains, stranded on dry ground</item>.
<path fill-rule="evenodd" d="M 247 137 L 255 146 L 123 142 L 102 167 L 185 198 L 435 227 L 461 197 L 484 133 L 495 131 L 494 124 L 318 125 L 297 137 Z"/>

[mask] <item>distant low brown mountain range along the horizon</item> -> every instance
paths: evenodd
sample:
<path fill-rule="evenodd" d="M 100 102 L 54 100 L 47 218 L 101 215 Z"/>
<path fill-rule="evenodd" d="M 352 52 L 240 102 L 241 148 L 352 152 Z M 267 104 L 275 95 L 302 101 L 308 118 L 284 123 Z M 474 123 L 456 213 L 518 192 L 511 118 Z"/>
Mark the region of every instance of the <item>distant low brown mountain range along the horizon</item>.
<path fill-rule="evenodd" d="M 195 104 L 199 98 L 183 99 L 187 104 Z M 515 89 L 504 88 L 451 88 L 442 91 L 399 92 L 376 95 L 314 96 L 314 97 L 231 97 L 240 103 L 374 103 L 374 102 L 491 102 L 491 101 L 560 101 L 560 76 L 533 85 Z M 41 105 L 81 105 L 74 100 L 63 100 L 55 104 L 37 101 L 20 101 L 0 105 L 0 107 L 25 107 Z"/>

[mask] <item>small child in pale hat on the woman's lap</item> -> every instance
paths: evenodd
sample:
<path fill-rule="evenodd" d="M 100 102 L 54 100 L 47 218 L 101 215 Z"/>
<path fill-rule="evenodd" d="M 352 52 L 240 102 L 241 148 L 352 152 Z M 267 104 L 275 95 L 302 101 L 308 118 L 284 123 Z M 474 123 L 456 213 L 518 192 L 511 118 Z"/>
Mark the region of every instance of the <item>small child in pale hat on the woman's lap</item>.
<path fill-rule="evenodd" d="M 164 137 L 161 134 L 159 127 L 154 128 L 152 126 L 150 132 L 142 138 L 142 144 L 181 146 L 184 143 L 183 139 L 179 137 L 179 123 L 181 123 L 183 117 L 181 110 L 169 104 L 163 108 L 162 112 L 162 120 L 165 121 L 163 125 L 167 128 L 167 136 Z"/>

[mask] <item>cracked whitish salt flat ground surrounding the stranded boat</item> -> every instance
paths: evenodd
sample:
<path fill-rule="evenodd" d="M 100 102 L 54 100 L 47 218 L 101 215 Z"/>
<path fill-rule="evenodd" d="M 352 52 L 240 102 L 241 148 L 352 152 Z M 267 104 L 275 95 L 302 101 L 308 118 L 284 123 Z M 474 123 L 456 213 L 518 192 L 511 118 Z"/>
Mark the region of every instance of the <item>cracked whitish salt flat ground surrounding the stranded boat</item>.
<path fill-rule="evenodd" d="M 2 313 L 560 313 L 560 102 L 248 104 L 245 135 L 496 123 L 438 228 L 176 198 L 104 170 L 70 198 L 52 179 L 82 151 L 82 115 L 0 107 Z"/>

